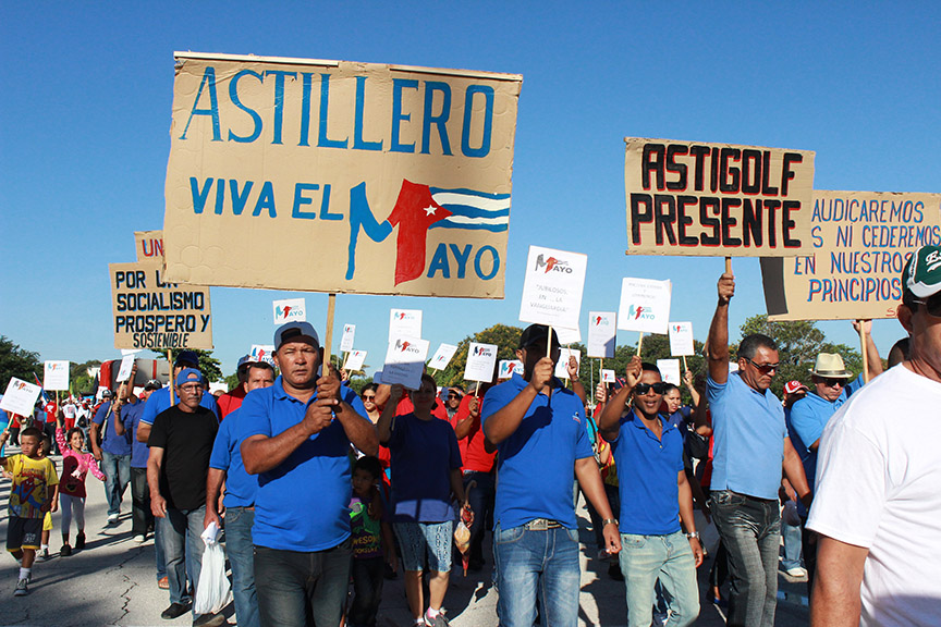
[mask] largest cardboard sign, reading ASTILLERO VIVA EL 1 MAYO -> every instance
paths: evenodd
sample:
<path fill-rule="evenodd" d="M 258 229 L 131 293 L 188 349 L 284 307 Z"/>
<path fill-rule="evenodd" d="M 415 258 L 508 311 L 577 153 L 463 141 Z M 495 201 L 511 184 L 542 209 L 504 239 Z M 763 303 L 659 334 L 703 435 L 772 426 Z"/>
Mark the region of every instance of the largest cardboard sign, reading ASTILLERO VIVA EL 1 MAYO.
<path fill-rule="evenodd" d="M 168 280 L 503 297 L 522 76 L 175 58 Z"/>

